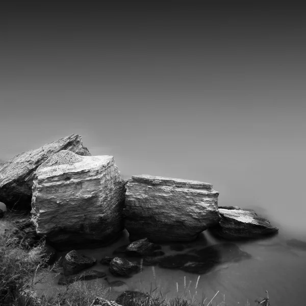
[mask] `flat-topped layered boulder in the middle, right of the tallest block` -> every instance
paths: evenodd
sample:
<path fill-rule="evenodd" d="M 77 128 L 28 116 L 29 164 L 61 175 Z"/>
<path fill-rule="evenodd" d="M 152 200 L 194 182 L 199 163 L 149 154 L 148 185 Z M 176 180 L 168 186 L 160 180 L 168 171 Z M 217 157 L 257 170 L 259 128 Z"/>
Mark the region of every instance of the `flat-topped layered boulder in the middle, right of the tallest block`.
<path fill-rule="evenodd" d="M 132 241 L 192 241 L 220 220 L 219 192 L 211 184 L 133 175 L 125 187 L 124 223 Z"/>

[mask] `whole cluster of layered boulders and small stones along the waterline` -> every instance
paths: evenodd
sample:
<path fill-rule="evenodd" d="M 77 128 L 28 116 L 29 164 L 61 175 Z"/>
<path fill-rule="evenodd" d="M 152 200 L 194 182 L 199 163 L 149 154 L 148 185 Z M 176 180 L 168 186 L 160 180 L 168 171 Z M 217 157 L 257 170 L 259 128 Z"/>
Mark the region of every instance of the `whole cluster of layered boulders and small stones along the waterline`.
<path fill-rule="evenodd" d="M 250 258 L 233 241 L 261 239 L 278 228 L 253 211 L 218 207 L 218 195 L 212 184 L 198 181 L 144 174 L 124 181 L 112 156 L 91 156 L 74 134 L 0 165 L 0 201 L 8 210 L 31 208 L 30 218 L 15 222 L 10 233 L 29 251 L 45 241 L 49 263 L 65 251 L 62 285 L 107 276 L 92 270 L 97 259 L 78 249 L 109 245 L 124 229 L 130 244 L 101 259 L 110 275 L 131 277 L 155 265 L 205 274 Z M 206 230 L 225 241 L 186 247 Z M 162 243 L 181 251 L 165 254 Z"/>

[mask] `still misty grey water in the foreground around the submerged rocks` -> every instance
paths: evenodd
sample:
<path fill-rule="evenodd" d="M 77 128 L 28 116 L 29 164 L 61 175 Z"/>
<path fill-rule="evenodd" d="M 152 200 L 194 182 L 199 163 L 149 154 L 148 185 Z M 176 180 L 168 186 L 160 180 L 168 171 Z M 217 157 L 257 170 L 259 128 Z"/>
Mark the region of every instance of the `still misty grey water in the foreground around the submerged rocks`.
<path fill-rule="evenodd" d="M 252 258 L 235 263 L 226 263 L 216 266 L 211 272 L 200 275 L 197 289 L 197 274 L 160 267 L 144 266 L 141 273 L 130 278 L 120 278 L 113 276 L 108 267 L 99 264 L 105 256 L 112 256 L 114 249 L 129 242 L 128 234 L 125 235 L 112 246 L 98 249 L 83 249 L 80 253 L 92 256 L 97 259 L 97 265 L 93 268 L 107 273 L 109 282 L 115 280 L 124 281 L 124 290 L 150 291 L 158 288 L 163 296 L 170 298 L 177 295 L 194 296 L 199 300 L 207 297 L 210 300 L 218 291 L 214 301 L 220 303 L 224 300 L 228 305 L 244 305 L 247 299 L 250 305 L 257 304 L 254 299 L 265 296 L 268 290 L 270 301 L 273 305 L 301 305 L 304 302 L 304 284 L 306 284 L 306 251 L 290 247 L 286 244 L 284 234 L 278 236 L 250 242 L 239 242 L 239 247 L 251 254 Z M 210 245 L 218 241 L 204 232 L 196 242 L 198 247 L 203 244 Z M 169 246 L 163 245 L 162 250 L 166 254 L 177 254 L 180 251 L 172 250 Z M 181 251 L 181 253 L 184 251 Z M 61 253 L 63 256 L 65 253 Z M 54 277 L 51 282 L 53 288 L 40 286 L 55 290 L 61 288 L 57 285 L 60 275 Z M 99 282 L 108 286 L 105 279 L 88 281 L 88 284 Z M 117 291 L 116 291 L 117 290 Z M 120 294 L 120 288 L 113 289 L 110 298 L 115 299 Z"/>

